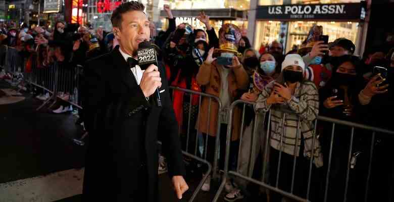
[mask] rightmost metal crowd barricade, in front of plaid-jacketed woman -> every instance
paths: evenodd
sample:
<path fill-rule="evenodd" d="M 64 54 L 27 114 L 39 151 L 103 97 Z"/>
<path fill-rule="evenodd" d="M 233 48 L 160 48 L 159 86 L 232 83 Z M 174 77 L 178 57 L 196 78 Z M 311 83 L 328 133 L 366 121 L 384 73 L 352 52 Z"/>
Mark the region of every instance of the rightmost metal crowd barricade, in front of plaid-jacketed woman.
<path fill-rule="evenodd" d="M 232 103 L 232 105 L 230 107 L 229 122 L 228 123 L 232 122 L 234 109 L 236 107 L 239 107 L 239 105 L 243 105 L 242 106 L 243 107 L 242 126 L 240 128 L 240 141 L 241 142 L 242 142 L 242 138 L 243 138 L 242 136 L 244 135 L 243 134 L 243 126 L 244 126 L 244 117 L 245 117 L 245 107 L 247 107 L 247 105 L 251 105 L 251 107 L 253 107 L 254 104 L 255 103 L 245 102 L 243 100 L 236 100 L 235 102 Z M 278 110 L 278 109 L 275 109 L 275 110 Z M 255 111 L 255 110 L 253 109 L 253 111 Z M 282 121 L 280 123 L 281 127 L 283 128 L 284 124 L 285 124 L 286 116 L 288 116 L 289 114 L 294 114 L 294 113 L 290 112 L 290 111 L 286 111 L 286 110 L 278 110 L 278 111 L 282 111 L 284 113 L 283 117 L 281 117 Z M 268 114 L 268 116 L 265 116 L 266 114 Z M 311 153 L 311 156 L 314 157 L 313 154 L 314 154 L 315 142 L 318 139 L 318 137 L 317 137 L 317 130 L 316 130 L 317 129 L 317 125 L 320 124 L 321 122 L 326 122 L 326 123 L 331 124 L 332 125 L 332 130 L 331 130 L 331 137 L 330 137 L 330 149 L 329 149 L 328 165 L 323 165 L 323 168 L 325 168 L 324 174 L 320 173 L 320 175 L 319 175 L 319 173 L 316 174 L 316 172 L 312 171 L 312 167 L 314 166 L 313 165 L 314 158 L 309 158 L 308 159 L 308 161 L 309 161 L 309 163 L 308 163 L 309 164 L 309 171 L 308 171 L 308 184 L 307 184 L 307 187 L 306 187 L 306 195 L 305 196 L 298 196 L 298 195 L 295 195 L 295 193 L 294 193 L 295 174 L 296 174 L 295 170 L 296 170 L 296 167 L 298 165 L 296 156 L 293 156 L 293 163 L 291 165 L 284 165 L 284 166 L 291 166 L 291 169 L 292 169 L 292 177 L 290 179 L 288 179 L 288 184 L 291 184 L 290 190 L 286 191 L 286 190 L 282 190 L 282 189 L 280 189 L 278 187 L 278 184 L 279 184 L 278 181 L 279 181 L 279 178 L 281 177 L 279 175 L 280 174 L 280 169 L 281 169 L 281 166 L 283 166 L 283 165 L 281 165 L 281 158 L 282 158 L 282 153 L 283 153 L 283 151 L 281 151 L 281 149 L 278 151 L 279 152 L 278 162 L 272 162 L 272 160 L 270 160 L 270 162 L 269 162 L 270 165 L 273 165 L 273 164 L 277 165 L 277 173 L 276 173 L 276 176 L 275 176 L 276 177 L 275 178 L 276 179 L 276 183 L 269 184 L 269 183 L 264 181 L 265 178 L 266 178 L 266 173 L 264 171 L 267 169 L 267 166 L 268 166 L 267 165 L 267 161 L 265 161 L 265 160 L 268 158 L 269 148 L 270 148 L 269 142 L 270 142 L 270 137 L 271 137 L 271 130 L 270 130 L 270 128 L 271 128 L 271 110 L 264 114 L 265 119 L 267 119 L 267 117 L 268 117 L 268 120 L 267 120 L 268 121 L 268 125 L 265 126 L 266 125 L 265 124 L 265 120 L 263 121 L 263 127 L 267 127 L 266 129 L 264 129 L 264 131 L 266 133 L 265 133 L 265 137 L 264 137 L 264 139 L 265 139 L 265 141 L 264 141 L 265 147 L 264 147 L 264 151 L 263 151 L 263 153 L 264 153 L 263 154 L 263 158 L 264 158 L 264 160 L 263 160 L 264 161 L 263 162 L 263 172 L 262 172 L 262 179 L 263 179 L 263 181 L 252 178 L 253 171 L 251 169 L 251 164 L 249 164 L 249 166 L 248 166 L 248 171 L 246 171 L 246 172 L 243 171 L 242 173 L 239 171 L 239 158 L 240 158 L 239 154 L 241 152 L 241 149 L 250 149 L 249 150 L 250 151 L 250 157 L 251 157 L 250 159 L 255 157 L 255 153 L 256 153 L 255 144 L 256 144 L 256 142 L 254 140 L 256 138 L 254 138 L 254 137 L 255 137 L 255 135 L 261 135 L 259 133 L 262 132 L 262 131 L 258 131 L 257 130 L 257 128 L 259 127 L 257 125 L 258 122 L 256 121 L 258 116 L 259 116 L 258 112 L 255 112 L 255 117 L 254 117 L 253 126 L 252 126 L 253 127 L 252 134 L 250 134 L 250 135 L 252 135 L 251 146 L 241 148 L 242 143 L 240 142 L 240 144 L 239 144 L 239 148 L 238 148 L 238 164 L 237 164 L 237 168 L 236 168 L 235 171 L 232 171 L 232 170 L 229 169 L 230 140 L 231 140 L 232 125 L 231 124 L 228 125 L 227 137 L 226 137 L 226 157 L 225 157 L 225 165 L 224 165 L 224 175 L 223 175 L 223 178 L 222 178 L 222 183 L 221 183 L 221 185 L 220 185 L 220 187 L 219 187 L 219 189 L 218 189 L 213 201 L 217 201 L 218 200 L 218 198 L 221 195 L 222 190 L 224 189 L 224 185 L 225 185 L 226 181 L 230 177 L 236 177 L 238 179 L 247 181 L 248 183 L 257 184 L 257 185 L 259 185 L 259 186 L 261 186 L 261 187 L 263 187 L 265 189 L 270 190 L 271 192 L 272 191 L 276 192 L 276 193 L 278 193 L 278 194 L 280 194 L 280 195 L 282 195 L 282 196 L 284 196 L 286 198 L 290 198 L 290 199 L 295 200 L 295 201 L 311 201 L 311 198 L 310 198 L 311 194 L 316 194 L 316 195 L 322 194 L 322 196 L 324 196 L 324 198 L 320 198 L 320 196 L 319 196 L 318 197 L 319 199 L 316 199 L 316 201 L 324 201 L 324 202 L 327 201 L 328 186 L 329 186 L 329 174 L 330 174 L 330 167 L 331 167 L 331 161 L 332 161 L 332 149 L 333 149 L 333 141 L 334 141 L 333 137 L 334 137 L 334 133 L 335 133 L 335 125 L 346 126 L 346 127 L 349 127 L 351 129 L 351 134 L 349 135 L 349 139 L 350 139 L 351 143 L 350 143 L 350 146 L 349 146 L 349 153 L 347 154 L 348 155 L 348 165 L 347 165 L 347 168 L 340 168 L 340 169 L 343 169 L 342 171 L 344 171 L 344 169 L 346 169 L 346 179 L 344 179 L 344 183 L 345 183 L 345 186 L 344 186 L 345 188 L 344 189 L 345 190 L 344 190 L 344 195 L 343 195 L 343 197 L 344 197 L 343 201 L 347 201 L 347 197 L 348 197 L 347 194 L 348 194 L 348 189 L 349 189 L 349 186 L 350 186 L 349 185 L 349 179 L 350 179 L 350 169 L 351 169 L 351 161 L 352 161 L 352 147 L 353 147 L 355 129 L 362 129 L 364 131 L 370 131 L 372 133 L 372 135 L 371 135 L 371 143 L 370 143 L 368 173 L 367 173 L 365 195 L 364 195 L 365 201 L 368 201 L 368 189 L 369 189 L 369 182 L 370 182 L 370 179 L 371 179 L 371 167 L 372 167 L 372 157 L 373 157 L 373 149 L 374 149 L 374 143 L 375 143 L 375 134 L 376 133 L 383 133 L 383 134 L 393 135 L 394 131 L 389 131 L 389 130 L 376 128 L 376 127 L 371 127 L 371 126 L 367 126 L 367 125 L 363 125 L 363 124 L 358 124 L 358 123 L 353 123 L 353 122 L 342 121 L 342 120 L 338 120 L 338 119 L 332 119 L 332 118 L 328 118 L 328 117 L 318 116 L 317 119 L 315 119 L 313 121 L 313 127 L 314 128 L 313 128 L 313 136 L 312 136 L 313 141 L 312 141 L 312 153 Z M 301 120 L 301 118 L 299 116 L 297 116 L 297 117 L 298 117 L 298 121 L 297 121 L 297 132 L 296 132 L 296 135 L 295 135 L 295 144 L 297 144 L 297 141 L 300 138 L 302 138 L 302 136 L 301 136 L 301 128 L 300 128 L 302 120 Z M 284 141 L 284 134 L 283 133 L 284 133 L 284 130 L 282 130 L 282 134 L 281 134 L 281 137 L 280 137 L 280 148 L 282 148 L 282 146 L 284 144 L 284 142 L 283 142 Z M 301 139 L 301 141 L 303 141 L 303 140 Z M 295 154 L 296 149 L 297 149 L 297 146 L 294 148 L 294 154 Z M 313 172 L 315 174 L 312 175 Z M 325 180 L 323 181 L 324 183 L 321 182 L 321 184 L 319 184 L 321 186 L 324 186 L 324 187 L 322 187 L 322 188 L 324 188 L 324 190 L 317 190 L 317 192 L 311 193 L 311 189 L 313 188 L 312 187 L 313 185 L 311 184 L 311 181 L 312 181 L 313 178 L 314 179 L 323 179 L 323 178 L 325 178 Z"/>

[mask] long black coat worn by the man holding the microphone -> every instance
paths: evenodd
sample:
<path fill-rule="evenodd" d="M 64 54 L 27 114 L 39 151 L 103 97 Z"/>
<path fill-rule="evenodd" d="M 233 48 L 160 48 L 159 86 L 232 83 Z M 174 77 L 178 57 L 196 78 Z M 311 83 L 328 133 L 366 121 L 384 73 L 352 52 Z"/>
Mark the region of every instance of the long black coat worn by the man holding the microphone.
<path fill-rule="evenodd" d="M 89 132 L 83 197 L 85 201 L 157 201 L 158 135 L 168 161 L 170 176 L 184 175 L 178 125 L 172 107 L 165 71 L 162 107 L 148 102 L 119 46 L 87 62 L 82 105 Z M 151 98 L 152 99 L 152 98 Z M 141 141 L 145 154 L 140 154 Z M 146 161 L 146 198 L 140 200 L 140 157 Z M 139 182 L 138 182 L 139 181 Z"/>

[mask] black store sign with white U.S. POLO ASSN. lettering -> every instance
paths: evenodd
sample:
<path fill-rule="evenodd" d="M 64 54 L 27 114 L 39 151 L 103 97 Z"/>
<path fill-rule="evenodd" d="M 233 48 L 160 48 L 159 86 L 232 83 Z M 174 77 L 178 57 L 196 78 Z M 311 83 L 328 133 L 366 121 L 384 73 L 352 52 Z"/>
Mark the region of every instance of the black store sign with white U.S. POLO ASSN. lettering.
<path fill-rule="evenodd" d="M 256 17 L 260 20 L 364 20 L 365 4 L 309 4 L 260 6 Z"/>

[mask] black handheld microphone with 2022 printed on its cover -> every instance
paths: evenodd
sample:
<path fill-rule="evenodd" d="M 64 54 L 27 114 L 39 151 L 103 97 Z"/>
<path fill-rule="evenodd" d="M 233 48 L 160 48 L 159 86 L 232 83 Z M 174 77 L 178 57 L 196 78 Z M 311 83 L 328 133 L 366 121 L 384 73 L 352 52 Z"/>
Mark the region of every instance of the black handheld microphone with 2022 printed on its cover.
<path fill-rule="evenodd" d="M 141 70 L 146 70 L 150 65 L 156 65 L 157 67 L 159 67 L 157 62 L 156 50 L 149 41 L 143 41 L 138 44 L 137 56 L 138 66 L 141 68 Z M 156 89 L 156 94 L 157 106 L 162 107 L 162 100 L 160 98 L 159 88 Z"/>

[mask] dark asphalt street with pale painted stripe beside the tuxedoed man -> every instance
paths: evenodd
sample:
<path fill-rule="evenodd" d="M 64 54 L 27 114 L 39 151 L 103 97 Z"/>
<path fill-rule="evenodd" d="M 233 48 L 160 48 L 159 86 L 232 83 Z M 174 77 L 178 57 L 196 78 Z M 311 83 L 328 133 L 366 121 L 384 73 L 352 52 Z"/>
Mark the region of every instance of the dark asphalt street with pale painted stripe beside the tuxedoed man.
<path fill-rule="evenodd" d="M 6 88 L 10 86 L 0 80 L 0 89 Z M 46 108 L 36 111 L 42 101 L 30 93 L 22 92 L 11 104 L 7 100 L 15 97 L 6 96 L 0 90 L 6 100 L 0 103 L 0 202 L 81 201 L 86 146 L 72 141 L 83 133 L 75 125 L 77 118 Z M 190 190 L 181 201 L 190 198 L 201 179 L 186 177 Z M 166 173 L 160 175 L 159 188 L 162 201 L 178 201 Z M 200 192 L 194 201 L 213 197 L 214 191 Z"/>

